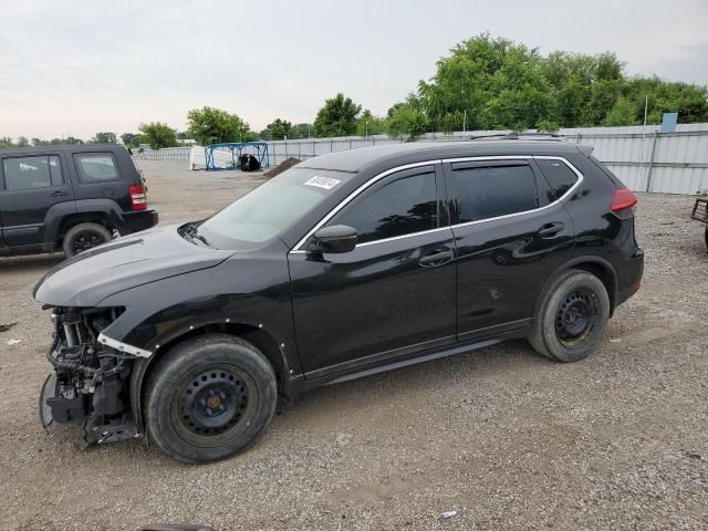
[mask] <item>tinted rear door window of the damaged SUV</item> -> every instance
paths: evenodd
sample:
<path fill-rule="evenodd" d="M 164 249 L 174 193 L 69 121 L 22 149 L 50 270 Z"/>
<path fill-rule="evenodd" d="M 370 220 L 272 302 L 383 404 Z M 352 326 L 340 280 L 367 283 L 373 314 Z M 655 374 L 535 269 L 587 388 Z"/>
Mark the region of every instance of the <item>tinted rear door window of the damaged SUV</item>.
<path fill-rule="evenodd" d="M 461 223 L 539 206 L 535 178 L 528 165 L 454 168 L 451 187 Z"/>

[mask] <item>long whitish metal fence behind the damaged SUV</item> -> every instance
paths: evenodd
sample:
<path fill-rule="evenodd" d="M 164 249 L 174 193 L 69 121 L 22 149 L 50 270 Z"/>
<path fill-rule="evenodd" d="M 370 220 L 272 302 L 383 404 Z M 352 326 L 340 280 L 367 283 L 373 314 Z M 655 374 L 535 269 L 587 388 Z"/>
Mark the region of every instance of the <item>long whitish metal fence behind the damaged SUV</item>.
<path fill-rule="evenodd" d="M 469 136 L 503 131 L 428 133 L 419 140 L 462 140 Z M 561 129 L 569 142 L 593 146 L 593 155 L 605 163 L 623 183 L 637 191 L 695 194 L 708 189 L 708 124 L 680 124 L 675 133 L 657 133 L 657 126 L 584 127 Z M 271 166 L 288 157 L 301 160 L 327 153 L 405 142 L 387 135 L 369 137 L 308 138 L 269 142 Z M 231 153 L 215 152 L 217 166 L 231 164 Z M 191 168 L 205 167 L 204 147 L 170 147 L 145 150 L 136 158 L 189 160 Z"/>

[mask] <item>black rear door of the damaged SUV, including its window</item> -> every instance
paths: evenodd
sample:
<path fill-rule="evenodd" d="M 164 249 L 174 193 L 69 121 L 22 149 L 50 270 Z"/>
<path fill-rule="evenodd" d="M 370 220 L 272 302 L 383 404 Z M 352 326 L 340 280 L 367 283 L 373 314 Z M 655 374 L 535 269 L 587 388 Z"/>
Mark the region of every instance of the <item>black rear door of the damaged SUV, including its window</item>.
<path fill-rule="evenodd" d="M 574 228 L 532 157 L 447 163 L 457 242 L 459 341 L 529 323 Z"/>

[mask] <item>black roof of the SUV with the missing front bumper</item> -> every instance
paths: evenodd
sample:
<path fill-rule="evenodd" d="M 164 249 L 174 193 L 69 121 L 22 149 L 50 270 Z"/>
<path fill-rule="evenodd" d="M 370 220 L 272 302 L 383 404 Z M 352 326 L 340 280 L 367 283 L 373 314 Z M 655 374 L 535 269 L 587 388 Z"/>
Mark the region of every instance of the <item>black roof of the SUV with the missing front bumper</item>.
<path fill-rule="evenodd" d="M 309 158 L 300 163 L 298 166 L 302 168 L 361 171 L 369 166 L 387 160 L 403 165 L 438 158 L 499 155 L 563 156 L 577 153 L 579 149 L 576 144 L 563 140 L 497 139 L 409 142 L 330 153 L 319 157 Z"/>

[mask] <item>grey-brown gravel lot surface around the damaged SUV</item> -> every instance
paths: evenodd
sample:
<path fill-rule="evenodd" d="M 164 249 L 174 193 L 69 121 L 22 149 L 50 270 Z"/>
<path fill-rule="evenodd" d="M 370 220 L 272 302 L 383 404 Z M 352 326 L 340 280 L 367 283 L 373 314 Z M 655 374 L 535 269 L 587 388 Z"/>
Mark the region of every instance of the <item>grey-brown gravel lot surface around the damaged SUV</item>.
<path fill-rule="evenodd" d="M 142 166 L 164 223 L 260 183 Z M 199 467 L 138 441 L 80 451 L 73 429 L 39 426 L 50 320 L 31 293 L 60 258 L 0 259 L 0 324 L 18 322 L 0 332 L 0 528 L 706 529 L 708 256 L 691 204 L 639 197 L 644 285 L 590 358 L 512 342 L 326 387 Z"/>

